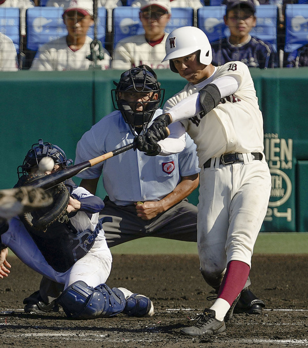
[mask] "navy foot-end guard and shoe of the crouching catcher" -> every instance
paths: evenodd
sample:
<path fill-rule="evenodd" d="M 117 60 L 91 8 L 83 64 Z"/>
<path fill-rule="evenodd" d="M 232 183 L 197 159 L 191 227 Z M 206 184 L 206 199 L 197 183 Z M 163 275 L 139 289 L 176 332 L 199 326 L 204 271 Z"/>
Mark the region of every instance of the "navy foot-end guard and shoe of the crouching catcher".
<path fill-rule="evenodd" d="M 133 293 L 126 298 L 123 313 L 133 317 L 151 317 L 154 314 L 152 301 L 139 293 Z"/>

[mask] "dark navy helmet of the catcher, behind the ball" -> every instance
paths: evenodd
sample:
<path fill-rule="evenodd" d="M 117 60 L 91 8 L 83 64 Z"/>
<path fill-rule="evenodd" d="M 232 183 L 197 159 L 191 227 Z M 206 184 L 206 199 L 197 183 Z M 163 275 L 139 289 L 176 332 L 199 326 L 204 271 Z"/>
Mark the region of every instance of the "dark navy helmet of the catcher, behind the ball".
<path fill-rule="evenodd" d="M 17 167 L 18 177 L 28 175 L 31 168 L 38 166 L 43 157 L 51 157 L 55 164 L 61 164 L 63 168 L 70 166 L 73 162 L 66 158 L 65 152 L 59 146 L 44 143 L 42 139 L 39 139 L 39 142 L 33 144 L 31 150 L 28 151 L 23 164 Z"/>

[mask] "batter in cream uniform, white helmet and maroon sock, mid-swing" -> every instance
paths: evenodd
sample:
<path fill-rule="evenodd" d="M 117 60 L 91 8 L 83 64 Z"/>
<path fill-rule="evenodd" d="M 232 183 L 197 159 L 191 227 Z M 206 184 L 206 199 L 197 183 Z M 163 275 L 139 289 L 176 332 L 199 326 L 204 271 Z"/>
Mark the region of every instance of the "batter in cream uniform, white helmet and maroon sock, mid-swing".
<path fill-rule="evenodd" d="M 232 61 L 214 67 L 206 35 L 196 27 L 171 32 L 166 42 L 170 67 L 188 84 L 164 106 L 135 146 L 148 154 L 164 155 L 183 148 L 182 136 L 173 143 L 165 127 L 176 122 L 197 145 L 200 188 L 198 253 L 206 282 L 217 299 L 195 325 L 181 333 L 221 334 L 245 288 L 257 234 L 266 214 L 271 178 L 263 154 L 263 122 L 247 66 Z M 180 121 L 180 122 L 177 122 Z M 178 138 L 178 139 L 177 139 Z"/>

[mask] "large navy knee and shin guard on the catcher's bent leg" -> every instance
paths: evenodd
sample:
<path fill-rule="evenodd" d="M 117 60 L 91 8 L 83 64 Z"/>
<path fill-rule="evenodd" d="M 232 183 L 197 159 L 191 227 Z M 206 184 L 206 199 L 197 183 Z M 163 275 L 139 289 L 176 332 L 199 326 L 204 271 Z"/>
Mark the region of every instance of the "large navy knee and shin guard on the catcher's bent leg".
<path fill-rule="evenodd" d="M 120 290 L 111 290 L 106 284 L 92 288 L 82 281 L 65 289 L 57 302 L 64 313 L 74 319 L 112 317 L 121 313 L 126 303 Z"/>

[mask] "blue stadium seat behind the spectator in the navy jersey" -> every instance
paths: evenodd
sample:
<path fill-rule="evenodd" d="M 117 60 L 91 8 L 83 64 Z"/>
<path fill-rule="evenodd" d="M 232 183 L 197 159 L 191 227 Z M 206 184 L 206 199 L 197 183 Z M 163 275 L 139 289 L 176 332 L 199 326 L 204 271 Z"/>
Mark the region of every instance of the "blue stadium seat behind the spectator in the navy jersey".
<path fill-rule="evenodd" d="M 197 10 L 197 26 L 207 35 L 210 42 L 229 36 L 229 28 L 224 23 L 226 5 L 205 6 Z M 272 44 L 277 50 L 277 5 L 259 5 L 256 8 L 257 23 L 250 32 L 261 40 Z"/>

